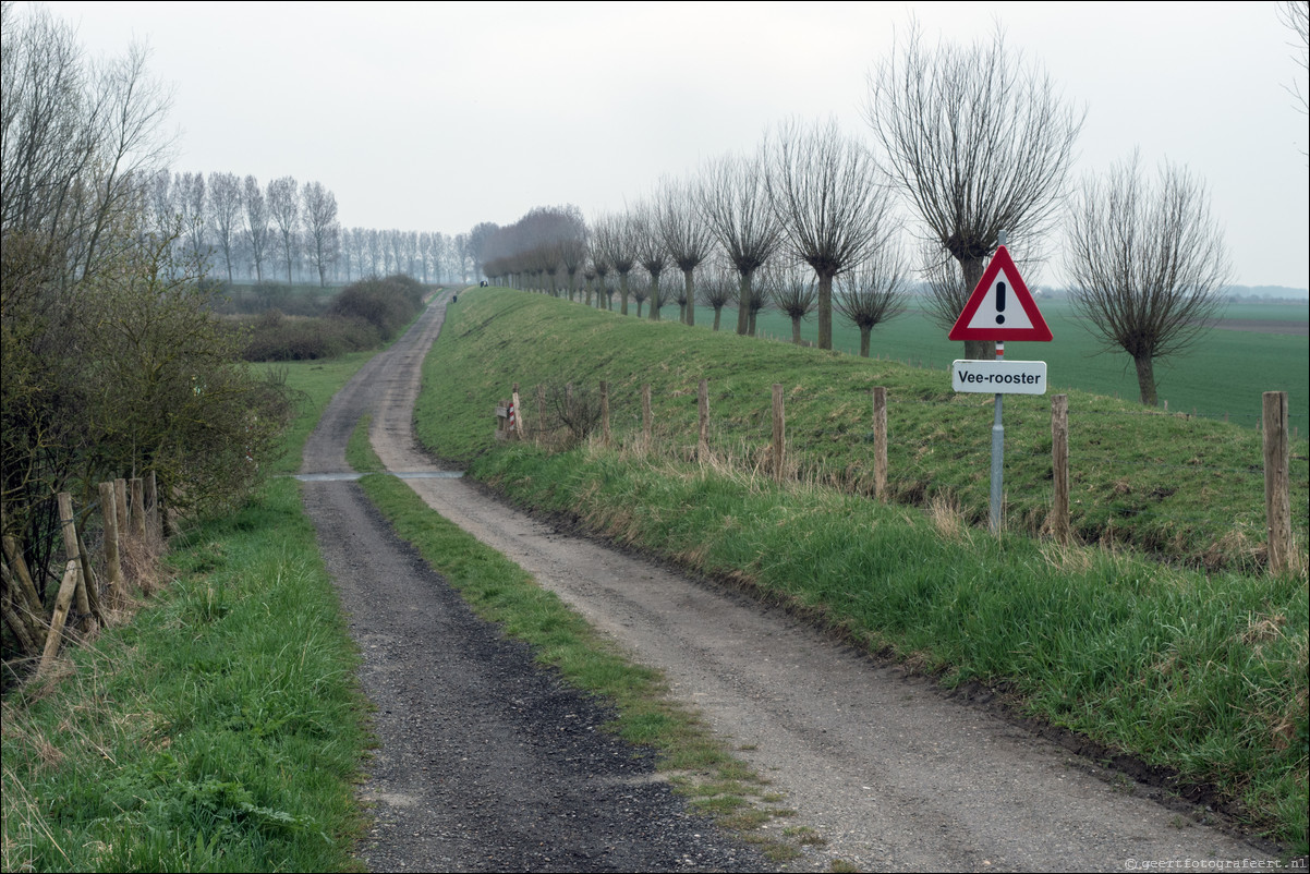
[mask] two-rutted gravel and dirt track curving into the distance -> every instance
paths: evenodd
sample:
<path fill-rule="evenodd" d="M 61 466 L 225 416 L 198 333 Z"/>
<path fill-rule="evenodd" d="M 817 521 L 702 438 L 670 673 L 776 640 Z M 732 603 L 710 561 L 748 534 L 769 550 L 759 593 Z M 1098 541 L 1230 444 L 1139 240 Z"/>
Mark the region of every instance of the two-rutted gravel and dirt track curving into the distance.
<path fill-rule="evenodd" d="M 410 419 L 419 364 L 443 317 L 444 304 L 438 303 L 402 343 L 379 356 L 343 389 L 307 447 L 305 473 L 345 469 L 345 438 L 363 411 L 373 414 L 371 438 L 389 470 L 438 469 L 415 449 Z M 948 700 L 926 680 L 905 677 L 895 667 L 874 663 L 739 594 L 561 533 L 506 507 L 470 482 L 413 478 L 409 484 L 435 510 L 506 553 L 541 586 L 558 592 L 625 646 L 634 660 L 664 671 L 675 693 L 700 708 L 741 757 L 773 780 L 785 793 L 785 803 L 798 811 L 789 824 L 808 826 L 827 841 L 808 848 L 804 858 L 791 864 L 791 870 L 828 870 L 834 860 L 871 871 L 1124 870 L 1170 860 L 1179 866 L 1182 860 L 1192 860 L 1195 865 L 1201 860 L 1271 856 L 1268 848 L 1199 824 L 1188 812 L 1151 801 L 1145 797 L 1149 793 L 1136 790 L 1121 777 L 1107 780 L 1094 773 L 1091 763 L 1061 746 L 985 709 Z M 481 805 L 458 806 L 462 802 L 457 784 L 468 781 L 498 798 L 512 798 L 531 782 L 545 795 L 527 798 L 527 808 L 540 803 L 552 810 L 555 795 L 567 795 L 569 805 L 592 811 L 579 814 L 584 816 L 596 808 L 614 812 L 612 797 L 604 794 L 609 788 L 620 786 L 629 795 L 639 790 L 659 795 L 655 801 L 660 803 L 675 805 L 664 819 L 656 819 L 660 823 L 656 832 L 690 823 L 688 835 L 696 836 L 688 839 L 690 850 L 663 854 L 658 841 L 648 850 L 625 845 L 622 850 L 601 853 L 600 844 L 609 846 L 601 839 L 593 841 L 593 850 L 604 866 L 591 870 L 762 867 L 761 860 L 747 857 L 748 850 L 731 846 L 688 819 L 676 808 L 676 799 L 660 794 L 660 784 L 645 777 L 591 777 L 565 768 L 525 781 L 524 769 L 533 770 L 537 765 L 515 759 L 519 747 L 514 743 L 528 743 L 524 738 L 554 731 L 552 726 L 558 719 L 553 715 L 558 708 L 549 698 L 569 693 L 552 688 L 541 693 L 544 697 L 479 698 L 479 680 L 461 687 L 444 663 L 424 662 L 453 658 L 451 653 L 400 658 L 400 653 L 422 641 L 461 634 L 455 629 L 434 632 L 444 616 L 458 612 L 457 605 L 448 603 L 440 580 L 409 579 L 423 577 L 419 562 L 394 544 L 376 519 L 365 525 L 371 515 L 367 507 L 346 508 L 350 501 L 359 504 L 362 498 L 334 497 L 358 491 L 354 485 L 314 482 L 304 489 L 307 508 L 322 532 L 329 566 L 338 577 L 347 609 L 355 616 L 352 628 L 367 659 L 367 691 L 383 698 L 375 697 L 381 709 L 383 748 L 369 784 L 381 826 L 365 853 L 369 865 L 417 870 L 512 869 L 514 865 L 502 861 L 470 857 L 469 849 L 448 846 L 461 829 L 469 828 L 466 816 L 487 814 Z M 334 515 L 339 518 L 337 523 Z M 375 542 L 385 542 L 384 550 L 394 552 L 398 565 L 365 582 L 356 574 L 380 560 L 359 556 Z M 371 618 L 393 598 L 396 604 L 386 607 L 393 613 L 381 624 Z M 460 642 L 447 649 L 477 653 L 482 645 Z M 419 688 L 430 697 L 411 701 L 409 696 Z M 510 723 L 521 732 L 517 740 L 487 746 L 485 751 L 464 748 L 451 757 L 430 756 L 445 740 L 430 731 L 427 719 L 438 722 L 439 731 L 453 730 L 473 713 L 479 719 L 490 718 L 494 710 L 506 706 L 514 709 Z M 538 708 L 545 723 L 534 721 Z M 574 708 L 572 701 L 569 708 Z M 595 738 L 597 732 L 584 734 Z M 470 753 L 482 753 L 482 759 L 458 757 Z M 510 756 L 508 764 L 499 760 L 502 756 Z M 595 756 L 599 759 L 592 760 L 607 760 L 604 752 Z M 498 772 L 511 785 L 485 786 Z M 447 786 L 453 794 L 435 798 L 424 794 L 434 785 Z M 595 807 L 587 807 L 592 797 Z M 496 835 L 498 841 L 508 841 L 516 829 L 537 822 L 531 810 L 510 807 L 514 810 L 500 811 L 503 819 L 493 815 L 474 826 Z M 415 808 L 419 812 L 409 815 L 401 828 L 386 827 L 393 818 L 413 814 Z M 650 822 L 642 816 L 631 815 L 642 823 Z M 618 819 L 616 840 L 622 837 L 624 816 Z M 410 852 L 406 836 L 398 832 L 411 829 L 414 839 L 422 835 L 423 841 L 422 848 L 410 849 L 443 853 L 445 867 L 422 867 L 432 864 L 432 856 L 406 856 Z M 595 829 L 588 827 L 579 833 L 595 835 Z M 388 844 L 393 839 L 400 839 L 396 846 Z M 477 841 L 472 845 L 477 846 Z M 693 858 L 697 846 L 703 853 Z M 570 850 L 548 846 L 540 852 Z M 620 852 L 621 862 L 616 856 Z M 643 852 L 652 856 L 645 858 Z M 618 867 L 609 867 L 612 864 Z M 528 860 L 527 867 L 549 869 L 537 857 Z M 576 864 L 574 867 L 580 870 Z"/>

